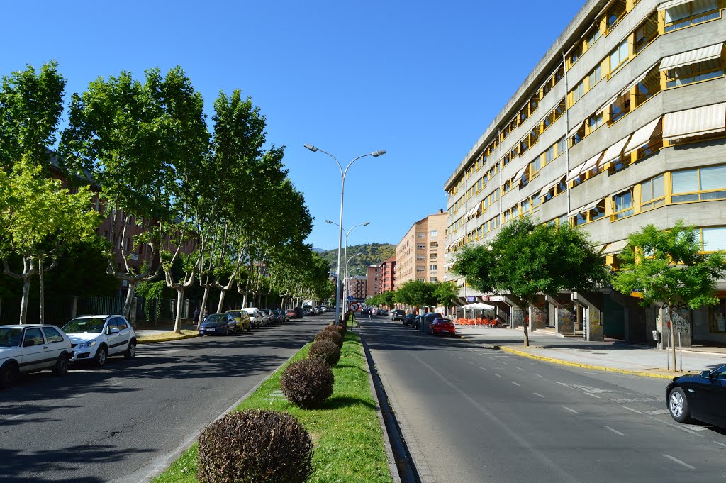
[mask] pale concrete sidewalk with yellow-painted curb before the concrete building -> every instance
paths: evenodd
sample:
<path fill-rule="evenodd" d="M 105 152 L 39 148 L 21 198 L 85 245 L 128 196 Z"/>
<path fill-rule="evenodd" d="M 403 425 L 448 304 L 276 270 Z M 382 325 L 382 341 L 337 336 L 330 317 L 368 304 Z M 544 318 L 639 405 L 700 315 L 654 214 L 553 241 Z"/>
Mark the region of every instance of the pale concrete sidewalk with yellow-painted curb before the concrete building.
<path fill-rule="evenodd" d="M 536 330 L 530 333 L 530 346 L 524 347 L 521 329 L 457 327 L 457 334 L 478 344 L 497 346 L 506 352 L 555 364 L 656 378 L 671 378 L 682 374 L 674 372 L 673 368 L 666 369 L 666 351 L 625 344 L 622 341 L 587 342 L 582 338 L 563 338 Z M 709 352 L 706 349 L 711 348 L 696 349 L 698 350 L 682 352 L 683 372 L 698 373 L 726 364 L 726 351 L 723 348 L 714 347 Z M 676 352 L 679 369 L 680 360 L 681 354 Z"/>

